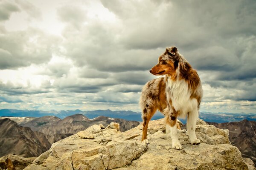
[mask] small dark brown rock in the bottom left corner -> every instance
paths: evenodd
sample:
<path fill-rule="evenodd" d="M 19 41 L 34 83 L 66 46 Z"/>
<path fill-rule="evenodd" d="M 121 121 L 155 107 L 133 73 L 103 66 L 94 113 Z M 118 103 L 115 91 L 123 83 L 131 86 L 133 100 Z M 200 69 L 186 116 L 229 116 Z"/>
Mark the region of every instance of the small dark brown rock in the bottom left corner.
<path fill-rule="evenodd" d="M 7 169 L 7 164 L 8 164 L 9 169 L 13 169 L 13 168 L 10 168 L 13 165 L 13 167 L 16 170 L 23 170 L 26 166 L 31 164 L 34 159 L 35 159 L 34 157 L 22 158 L 20 156 L 10 154 L 0 158 L 0 167 L 2 169 Z"/>

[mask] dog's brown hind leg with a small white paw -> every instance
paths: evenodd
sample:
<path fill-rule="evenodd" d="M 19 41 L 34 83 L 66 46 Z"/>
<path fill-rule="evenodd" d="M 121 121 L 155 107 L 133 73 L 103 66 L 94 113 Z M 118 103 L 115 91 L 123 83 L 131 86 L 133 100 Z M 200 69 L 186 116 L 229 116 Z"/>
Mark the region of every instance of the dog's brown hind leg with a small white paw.
<path fill-rule="evenodd" d="M 149 144 L 148 139 L 147 139 L 147 133 L 148 133 L 148 122 L 156 112 L 156 108 L 144 108 L 143 113 L 142 113 L 142 139 L 141 142 L 145 144 Z"/>

